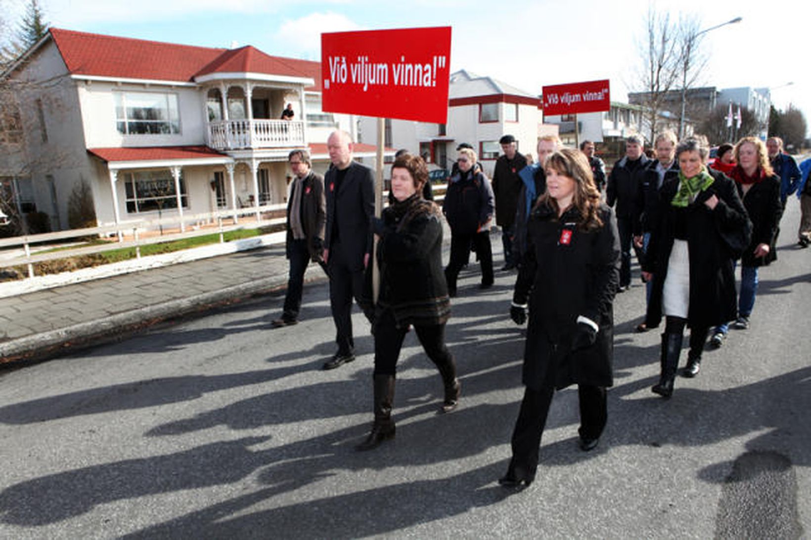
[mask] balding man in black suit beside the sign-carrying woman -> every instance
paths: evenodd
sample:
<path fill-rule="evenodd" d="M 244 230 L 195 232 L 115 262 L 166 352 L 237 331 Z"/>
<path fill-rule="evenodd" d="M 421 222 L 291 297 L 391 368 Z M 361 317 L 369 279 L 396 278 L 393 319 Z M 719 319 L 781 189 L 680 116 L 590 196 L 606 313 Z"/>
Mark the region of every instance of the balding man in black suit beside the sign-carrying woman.
<path fill-rule="evenodd" d="M 333 131 L 327 139 L 333 166 L 324 176 L 327 229 L 324 262 L 329 269 L 329 304 L 333 311 L 337 353 L 324 363 L 331 370 L 354 360 L 352 297 L 371 320 L 371 303 L 363 299 L 364 270 L 370 264 L 375 215 L 375 181 L 371 169 L 352 161 L 352 137 Z"/>

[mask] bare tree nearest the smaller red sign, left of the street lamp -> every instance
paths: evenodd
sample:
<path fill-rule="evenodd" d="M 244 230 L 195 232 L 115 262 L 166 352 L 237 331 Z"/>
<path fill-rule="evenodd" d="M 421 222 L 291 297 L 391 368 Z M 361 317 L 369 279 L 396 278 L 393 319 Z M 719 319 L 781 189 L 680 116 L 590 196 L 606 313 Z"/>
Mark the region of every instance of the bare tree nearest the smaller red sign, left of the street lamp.
<path fill-rule="evenodd" d="M 680 49 L 678 27 L 667 12 L 660 12 L 651 2 L 645 19 L 645 32 L 637 41 L 640 59 L 637 69 L 637 88 L 642 92 L 639 105 L 646 108 L 648 140 L 652 141 L 659 131 L 659 118 L 668 93 L 679 78 Z"/>

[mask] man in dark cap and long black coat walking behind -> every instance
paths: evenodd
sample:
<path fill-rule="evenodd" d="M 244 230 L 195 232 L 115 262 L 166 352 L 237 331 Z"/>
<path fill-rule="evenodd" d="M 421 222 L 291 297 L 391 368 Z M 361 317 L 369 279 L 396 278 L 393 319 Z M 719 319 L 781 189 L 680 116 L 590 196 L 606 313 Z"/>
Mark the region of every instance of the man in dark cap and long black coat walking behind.
<path fill-rule="evenodd" d="M 513 259 L 513 223 L 515 210 L 518 205 L 518 195 L 521 192 L 521 178 L 518 173 L 526 167 L 526 157 L 517 152 L 515 137 L 504 135 L 499 140 L 504 154 L 496 160 L 496 170 L 493 172 L 493 194 L 496 195 L 496 225 L 501 227 L 501 243 L 504 246 L 504 268 L 515 268 Z"/>

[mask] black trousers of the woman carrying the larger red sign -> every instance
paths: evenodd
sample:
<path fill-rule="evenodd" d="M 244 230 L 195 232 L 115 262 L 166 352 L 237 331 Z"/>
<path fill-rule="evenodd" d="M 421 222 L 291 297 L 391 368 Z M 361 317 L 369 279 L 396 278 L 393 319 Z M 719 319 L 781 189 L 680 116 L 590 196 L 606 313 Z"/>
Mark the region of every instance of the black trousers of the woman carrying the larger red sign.
<path fill-rule="evenodd" d="M 375 319 L 375 375 L 395 375 L 397 358 L 400 357 L 406 328 L 397 328 L 391 310 L 384 310 Z M 445 345 L 445 325 L 431 324 L 414 326 L 417 339 L 423 345 L 425 354 L 434 362 L 440 372 L 451 363 L 451 354 Z"/>

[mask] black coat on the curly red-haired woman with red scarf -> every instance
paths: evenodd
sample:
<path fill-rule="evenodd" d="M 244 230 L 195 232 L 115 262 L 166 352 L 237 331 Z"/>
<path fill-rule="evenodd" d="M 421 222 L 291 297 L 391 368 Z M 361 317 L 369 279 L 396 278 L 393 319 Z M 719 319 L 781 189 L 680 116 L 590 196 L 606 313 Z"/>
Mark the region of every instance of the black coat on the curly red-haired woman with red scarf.
<path fill-rule="evenodd" d="M 752 184 L 744 195 L 744 187 L 736 183 L 738 195 L 744 201 L 744 208 L 752 221 L 752 240 L 740 257 L 740 264 L 749 267 L 766 266 L 777 259 L 777 228 L 783 215 L 780 204 L 780 178 L 776 174 Z M 755 257 L 758 244 L 769 246 L 769 255 Z"/>

